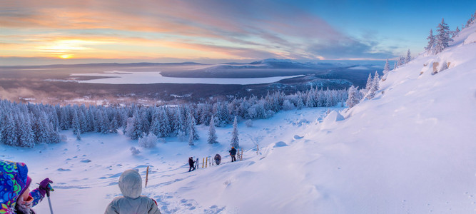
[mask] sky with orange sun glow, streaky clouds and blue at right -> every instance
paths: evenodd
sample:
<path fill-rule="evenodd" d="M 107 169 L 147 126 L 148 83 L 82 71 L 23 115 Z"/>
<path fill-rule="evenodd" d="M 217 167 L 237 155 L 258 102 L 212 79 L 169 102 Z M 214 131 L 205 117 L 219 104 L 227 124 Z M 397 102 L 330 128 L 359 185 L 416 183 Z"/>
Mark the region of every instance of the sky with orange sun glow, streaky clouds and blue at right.
<path fill-rule="evenodd" d="M 384 59 L 423 51 L 476 1 L 39 1 L 0 4 L 0 66 Z"/>

